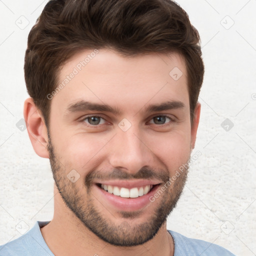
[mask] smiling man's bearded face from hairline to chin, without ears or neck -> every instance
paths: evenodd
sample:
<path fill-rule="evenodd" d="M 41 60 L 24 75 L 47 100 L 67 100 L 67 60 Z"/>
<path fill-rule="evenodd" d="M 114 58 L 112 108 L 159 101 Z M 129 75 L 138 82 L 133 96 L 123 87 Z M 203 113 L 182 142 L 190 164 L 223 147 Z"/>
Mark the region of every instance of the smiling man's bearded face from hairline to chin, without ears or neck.
<path fill-rule="evenodd" d="M 80 66 L 92 51 L 74 55 L 58 77 L 75 73 L 51 99 L 51 168 L 78 221 L 108 243 L 138 245 L 165 222 L 186 179 L 187 170 L 168 183 L 191 152 L 185 64 L 176 53 L 102 49 Z"/>

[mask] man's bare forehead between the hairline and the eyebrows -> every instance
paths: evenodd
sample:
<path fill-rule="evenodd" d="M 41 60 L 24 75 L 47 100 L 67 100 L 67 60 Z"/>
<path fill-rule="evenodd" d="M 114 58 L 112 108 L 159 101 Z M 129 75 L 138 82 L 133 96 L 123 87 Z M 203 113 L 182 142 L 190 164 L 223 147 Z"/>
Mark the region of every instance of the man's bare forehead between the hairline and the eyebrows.
<path fill-rule="evenodd" d="M 62 67 L 55 91 L 51 107 L 63 110 L 79 100 L 134 111 L 167 100 L 189 104 L 185 62 L 178 53 L 124 57 L 108 49 L 87 49 Z"/>

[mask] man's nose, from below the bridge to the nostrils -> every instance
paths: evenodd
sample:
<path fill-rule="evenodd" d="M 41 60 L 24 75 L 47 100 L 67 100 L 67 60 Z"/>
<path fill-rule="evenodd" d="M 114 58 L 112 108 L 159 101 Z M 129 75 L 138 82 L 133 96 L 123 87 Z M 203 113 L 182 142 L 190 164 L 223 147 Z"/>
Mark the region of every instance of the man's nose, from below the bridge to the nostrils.
<path fill-rule="evenodd" d="M 148 147 L 145 133 L 132 126 L 127 131 L 117 130 L 110 146 L 109 163 L 112 167 L 135 174 L 143 166 L 152 166 L 154 153 Z"/>

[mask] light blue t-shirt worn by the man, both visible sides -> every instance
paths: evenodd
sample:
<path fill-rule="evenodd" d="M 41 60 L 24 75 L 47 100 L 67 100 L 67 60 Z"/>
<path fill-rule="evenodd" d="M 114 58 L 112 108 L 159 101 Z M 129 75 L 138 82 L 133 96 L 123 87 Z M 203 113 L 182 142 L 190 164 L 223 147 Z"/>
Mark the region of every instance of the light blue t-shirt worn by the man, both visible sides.
<path fill-rule="evenodd" d="M 36 221 L 34 226 L 17 239 L 0 246 L 0 256 L 54 256 L 45 243 L 40 227 L 49 221 Z M 213 243 L 191 239 L 168 230 L 174 240 L 174 256 L 234 256 Z"/>

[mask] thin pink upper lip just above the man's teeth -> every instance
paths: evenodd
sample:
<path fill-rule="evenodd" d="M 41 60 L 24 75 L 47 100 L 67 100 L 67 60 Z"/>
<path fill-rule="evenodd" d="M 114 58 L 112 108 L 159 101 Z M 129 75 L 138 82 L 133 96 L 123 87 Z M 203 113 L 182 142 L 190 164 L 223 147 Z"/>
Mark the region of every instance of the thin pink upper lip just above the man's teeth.
<path fill-rule="evenodd" d="M 111 186 L 118 186 L 118 187 L 126 187 L 126 188 L 132 188 L 132 187 L 140 187 L 140 186 L 146 186 L 146 185 L 157 185 L 161 182 L 159 180 L 149 180 L 149 179 L 136 179 L 136 180 L 102 180 L 98 181 L 96 183 L 99 184 L 105 184 L 105 185 L 111 185 Z"/>

